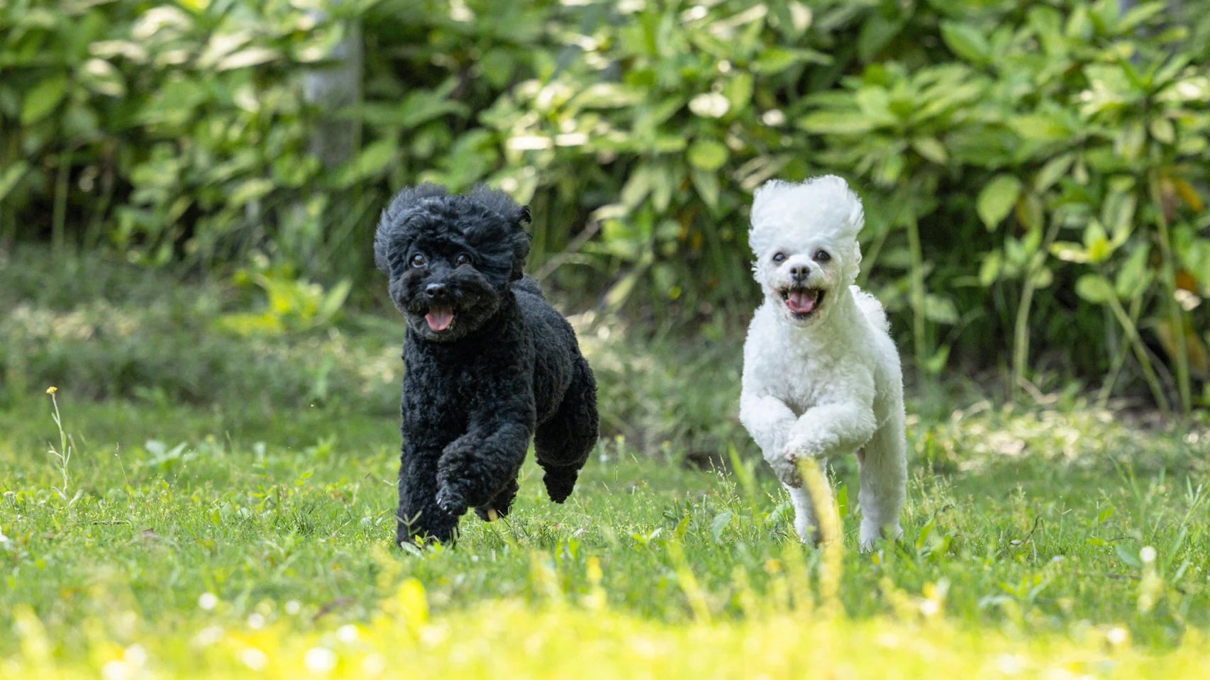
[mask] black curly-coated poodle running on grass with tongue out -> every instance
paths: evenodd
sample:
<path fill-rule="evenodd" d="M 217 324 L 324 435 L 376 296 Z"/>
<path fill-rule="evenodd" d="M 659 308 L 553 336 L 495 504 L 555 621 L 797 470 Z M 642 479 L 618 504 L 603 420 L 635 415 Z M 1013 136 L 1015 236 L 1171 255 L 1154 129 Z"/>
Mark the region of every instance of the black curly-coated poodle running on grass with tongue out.
<path fill-rule="evenodd" d="M 397 540 L 450 541 L 505 515 L 530 437 L 561 503 L 597 443 L 597 382 L 523 266 L 530 211 L 486 188 L 421 184 L 382 213 L 374 260 L 408 321 Z"/>

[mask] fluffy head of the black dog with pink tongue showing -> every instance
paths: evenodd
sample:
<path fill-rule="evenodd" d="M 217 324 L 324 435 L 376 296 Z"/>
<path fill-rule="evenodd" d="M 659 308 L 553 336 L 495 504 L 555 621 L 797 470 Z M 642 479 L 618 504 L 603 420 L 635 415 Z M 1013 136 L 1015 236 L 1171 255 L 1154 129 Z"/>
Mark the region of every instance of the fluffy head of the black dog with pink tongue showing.
<path fill-rule="evenodd" d="M 485 186 L 465 196 L 434 184 L 409 186 L 382 211 L 374 261 L 414 332 L 456 340 L 490 318 L 522 277 L 529 221 L 528 207 Z"/>

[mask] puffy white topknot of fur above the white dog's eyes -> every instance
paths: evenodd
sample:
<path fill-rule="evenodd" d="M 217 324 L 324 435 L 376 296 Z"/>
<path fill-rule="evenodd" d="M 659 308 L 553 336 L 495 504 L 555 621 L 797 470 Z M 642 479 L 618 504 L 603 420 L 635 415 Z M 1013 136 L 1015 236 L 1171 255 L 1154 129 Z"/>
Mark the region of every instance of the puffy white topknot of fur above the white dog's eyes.
<path fill-rule="evenodd" d="M 813 177 L 802 183 L 771 179 L 756 189 L 753 198 L 753 252 L 762 253 L 772 235 L 785 231 L 811 232 L 825 238 L 854 240 L 865 224 L 862 200 L 848 184 L 834 175 Z"/>

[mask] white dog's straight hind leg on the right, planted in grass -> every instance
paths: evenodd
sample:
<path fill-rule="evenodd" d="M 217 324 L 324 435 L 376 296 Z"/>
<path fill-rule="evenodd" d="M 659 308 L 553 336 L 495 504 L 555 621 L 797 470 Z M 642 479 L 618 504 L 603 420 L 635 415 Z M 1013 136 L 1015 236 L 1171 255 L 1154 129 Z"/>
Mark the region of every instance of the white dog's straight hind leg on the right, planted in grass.
<path fill-rule="evenodd" d="M 906 444 L 900 434 L 887 428 L 875 434 L 858 454 L 862 463 L 862 551 L 874 549 L 882 536 L 899 538 L 899 512 L 908 485 Z"/>

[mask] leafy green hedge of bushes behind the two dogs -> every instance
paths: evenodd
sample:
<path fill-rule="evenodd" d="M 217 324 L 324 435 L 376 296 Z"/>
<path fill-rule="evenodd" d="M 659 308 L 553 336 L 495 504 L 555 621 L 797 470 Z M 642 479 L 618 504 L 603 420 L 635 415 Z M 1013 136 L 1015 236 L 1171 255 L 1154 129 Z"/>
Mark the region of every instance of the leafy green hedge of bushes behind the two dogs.
<path fill-rule="evenodd" d="M 1189 408 L 1210 402 L 1206 10 L 7 2 L 0 240 L 378 283 L 393 189 L 488 181 L 535 207 L 555 287 L 685 321 L 756 301 L 756 185 L 835 172 L 866 201 L 863 283 L 922 374 Z M 300 73 L 355 21 L 364 102 L 336 116 L 362 144 L 323 168 Z"/>

